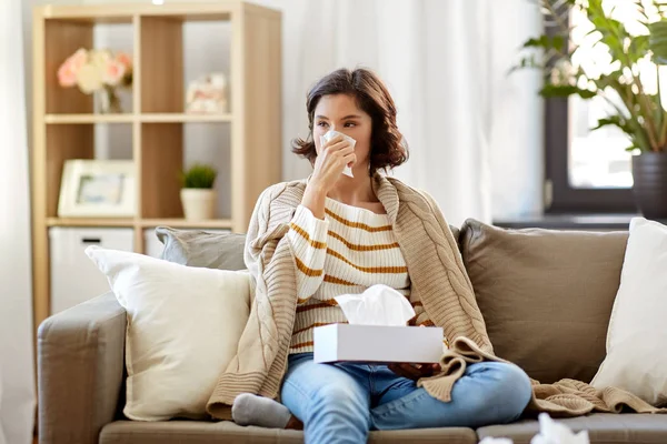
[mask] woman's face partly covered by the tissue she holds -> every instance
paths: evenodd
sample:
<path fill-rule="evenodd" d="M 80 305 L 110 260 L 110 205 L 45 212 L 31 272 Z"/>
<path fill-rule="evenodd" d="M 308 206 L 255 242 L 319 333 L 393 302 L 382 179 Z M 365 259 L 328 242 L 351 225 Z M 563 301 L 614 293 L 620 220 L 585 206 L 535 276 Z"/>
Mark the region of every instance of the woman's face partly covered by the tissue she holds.
<path fill-rule="evenodd" d="M 334 130 L 355 139 L 357 163 L 352 170 L 368 170 L 370 159 L 370 133 L 372 121 L 370 115 L 357 107 L 357 101 L 348 94 L 322 95 L 315 108 L 312 121 L 312 140 L 319 155 L 322 150 L 320 135 Z M 355 174 L 357 175 L 357 174 Z"/>

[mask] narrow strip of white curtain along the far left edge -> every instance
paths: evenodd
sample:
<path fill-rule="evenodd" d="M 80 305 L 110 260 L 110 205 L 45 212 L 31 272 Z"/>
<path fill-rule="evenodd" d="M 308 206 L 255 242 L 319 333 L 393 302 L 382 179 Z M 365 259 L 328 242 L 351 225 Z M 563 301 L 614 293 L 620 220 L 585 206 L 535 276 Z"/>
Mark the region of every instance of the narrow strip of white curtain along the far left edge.
<path fill-rule="evenodd" d="M 21 0 L 0 1 L 0 443 L 32 442 L 34 370 Z"/>

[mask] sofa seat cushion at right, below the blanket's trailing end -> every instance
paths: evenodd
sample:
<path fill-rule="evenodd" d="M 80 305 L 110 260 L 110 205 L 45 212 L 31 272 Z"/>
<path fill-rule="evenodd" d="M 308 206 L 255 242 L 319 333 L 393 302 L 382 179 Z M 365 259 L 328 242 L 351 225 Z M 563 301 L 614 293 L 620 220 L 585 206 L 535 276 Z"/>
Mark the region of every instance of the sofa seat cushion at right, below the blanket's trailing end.
<path fill-rule="evenodd" d="M 574 432 L 588 431 L 590 444 L 663 444 L 667 443 L 667 415 L 595 413 L 589 416 L 557 420 Z M 529 444 L 539 432 L 537 421 L 491 425 L 477 430 L 480 440 L 487 436 L 509 437 L 514 444 Z"/>

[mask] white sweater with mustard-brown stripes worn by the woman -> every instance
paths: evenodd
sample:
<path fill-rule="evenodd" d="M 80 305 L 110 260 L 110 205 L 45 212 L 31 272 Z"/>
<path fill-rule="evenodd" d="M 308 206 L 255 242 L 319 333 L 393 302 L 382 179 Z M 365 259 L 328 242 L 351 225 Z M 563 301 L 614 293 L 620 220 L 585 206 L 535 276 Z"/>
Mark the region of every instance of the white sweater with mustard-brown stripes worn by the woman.
<path fill-rule="evenodd" d="M 410 325 L 432 325 L 417 295 L 387 214 L 327 198 L 325 220 L 299 205 L 287 233 L 297 263 L 297 315 L 290 353 L 312 351 L 312 329 L 347 319 L 335 297 L 374 284 L 396 289 L 415 309 Z"/>

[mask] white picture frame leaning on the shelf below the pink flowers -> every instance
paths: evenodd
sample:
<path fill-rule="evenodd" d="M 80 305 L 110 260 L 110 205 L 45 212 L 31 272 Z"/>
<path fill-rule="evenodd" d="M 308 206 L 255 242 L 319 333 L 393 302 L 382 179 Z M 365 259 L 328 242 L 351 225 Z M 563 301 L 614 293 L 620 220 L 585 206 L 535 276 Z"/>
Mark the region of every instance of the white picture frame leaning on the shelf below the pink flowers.
<path fill-rule="evenodd" d="M 136 194 L 131 160 L 68 160 L 62 171 L 58 215 L 132 218 Z"/>

